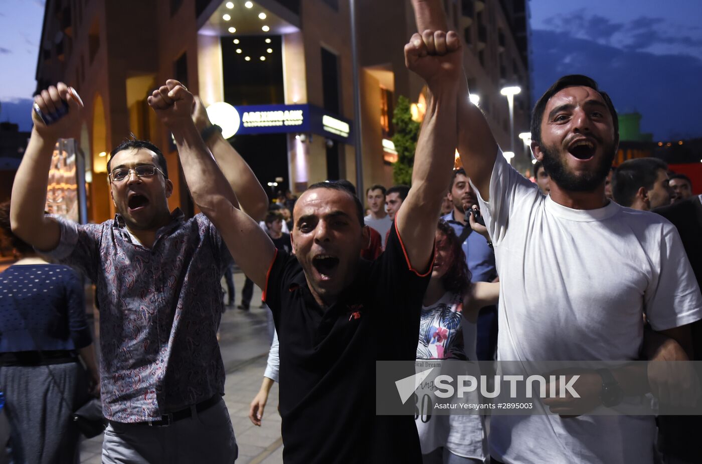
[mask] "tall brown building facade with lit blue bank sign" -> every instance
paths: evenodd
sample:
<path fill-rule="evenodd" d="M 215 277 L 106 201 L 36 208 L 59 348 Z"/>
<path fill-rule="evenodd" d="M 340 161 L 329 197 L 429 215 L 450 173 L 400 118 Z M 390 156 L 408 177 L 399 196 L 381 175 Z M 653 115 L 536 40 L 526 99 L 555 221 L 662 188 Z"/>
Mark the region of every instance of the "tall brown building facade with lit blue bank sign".
<path fill-rule="evenodd" d="M 355 122 L 350 5 L 357 11 L 360 124 Z M 444 0 L 465 41 L 465 72 L 503 150 L 510 142 L 503 86 L 519 85 L 515 134 L 529 128 L 526 0 Z M 192 213 L 170 134 L 147 105 L 166 79 L 183 81 L 205 105 L 226 102 L 222 124 L 261 184 L 301 192 L 326 179 L 392 185 L 392 110 L 399 95 L 421 119 L 426 91 L 404 67 L 416 30 L 409 0 L 47 0 L 37 90 L 65 81 L 86 108 L 73 134 L 86 159 L 88 220 L 114 214 L 107 155 L 133 134 L 164 151 L 170 206 Z M 215 107 L 218 107 L 217 105 Z M 232 113 L 231 107 L 234 108 Z"/>

